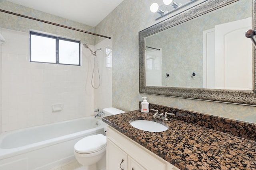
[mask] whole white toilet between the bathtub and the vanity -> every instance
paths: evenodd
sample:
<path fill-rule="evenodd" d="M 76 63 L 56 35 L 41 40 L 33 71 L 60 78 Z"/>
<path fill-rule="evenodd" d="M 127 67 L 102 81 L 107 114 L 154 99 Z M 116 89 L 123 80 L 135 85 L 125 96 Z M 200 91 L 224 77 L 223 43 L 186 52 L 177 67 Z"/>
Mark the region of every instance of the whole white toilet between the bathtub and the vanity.
<path fill-rule="evenodd" d="M 114 107 L 102 111 L 105 113 L 104 116 L 125 112 Z M 102 134 L 91 135 L 84 137 L 74 145 L 74 155 L 76 160 L 84 166 L 84 170 L 106 170 L 106 146 L 106 136 Z"/>

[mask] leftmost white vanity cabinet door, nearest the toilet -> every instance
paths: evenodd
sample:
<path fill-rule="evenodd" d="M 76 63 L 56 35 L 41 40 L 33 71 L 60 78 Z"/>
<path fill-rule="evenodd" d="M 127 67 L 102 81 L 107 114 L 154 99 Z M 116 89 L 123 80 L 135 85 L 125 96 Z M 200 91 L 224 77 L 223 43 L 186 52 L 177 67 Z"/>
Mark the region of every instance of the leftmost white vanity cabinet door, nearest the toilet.
<path fill-rule="evenodd" d="M 128 155 L 107 139 L 107 170 L 127 170 Z"/>

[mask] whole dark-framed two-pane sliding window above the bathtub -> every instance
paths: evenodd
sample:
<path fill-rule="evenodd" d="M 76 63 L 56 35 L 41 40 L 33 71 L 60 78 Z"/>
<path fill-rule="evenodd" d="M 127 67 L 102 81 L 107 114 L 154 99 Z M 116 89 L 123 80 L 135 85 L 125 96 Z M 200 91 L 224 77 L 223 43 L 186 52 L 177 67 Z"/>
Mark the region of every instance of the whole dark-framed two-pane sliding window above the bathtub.
<path fill-rule="evenodd" d="M 30 32 L 30 62 L 80 65 L 80 41 Z"/>

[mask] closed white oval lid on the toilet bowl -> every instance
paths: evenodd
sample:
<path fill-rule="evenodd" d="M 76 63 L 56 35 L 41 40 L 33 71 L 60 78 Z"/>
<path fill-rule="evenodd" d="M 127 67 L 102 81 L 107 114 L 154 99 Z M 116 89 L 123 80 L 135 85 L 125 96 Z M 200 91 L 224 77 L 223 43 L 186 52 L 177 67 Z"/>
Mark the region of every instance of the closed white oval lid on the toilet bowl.
<path fill-rule="evenodd" d="M 78 141 L 74 149 L 78 153 L 93 153 L 106 147 L 107 139 L 102 134 L 85 137 Z"/>

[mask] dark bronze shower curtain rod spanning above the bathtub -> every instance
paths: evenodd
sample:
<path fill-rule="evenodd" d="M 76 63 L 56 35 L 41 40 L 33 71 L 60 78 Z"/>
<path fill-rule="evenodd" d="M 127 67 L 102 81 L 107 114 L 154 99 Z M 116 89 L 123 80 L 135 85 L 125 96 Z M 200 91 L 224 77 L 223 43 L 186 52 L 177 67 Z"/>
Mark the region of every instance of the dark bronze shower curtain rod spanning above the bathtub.
<path fill-rule="evenodd" d="M 21 14 L 17 14 L 17 13 L 14 13 L 14 12 L 10 12 L 10 11 L 5 11 L 5 10 L 1 10 L 1 9 L 0 9 L 0 12 L 5 12 L 5 13 L 7 13 L 7 14 L 12 14 L 12 15 L 15 15 L 15 16 L 23 17 L 23 18 L 28 18 L 28 19 L 30 19 L 30 20 L 36 20 L 36 21 L 40 21 L 40 22 L 44 22 L 44 23 L 49 23 L 49 24 L 56 25 L 56 26 L 59 26 L 59 27 L 64 27 L 64 28 L 68 28 L 68 29 L 73 29 L 73 30 L 80 31 L 80 32 L 83 32 L 83 33 L 88 33 L 88 34 L 92 34 L 92 35 L 96 35 L 96 36 L 100 36 L 100 37 L 104 37 L 104 38 L 111 39 L 111 37 L 107 37 L 107 36 L 104 36 L 104 35 L 100 35 L 100 34 L 96 34 L 96 33 L 91 33 L 91 32 L 88 32 L 88 31 L 81 30 L 81 29 L 76 29 L 76 28 L 72 28 L 72 27 L 65 26 L 65 25 L 60 25 L 60 24 L 58 24 L 58 23 L 53 23 L 53 22 L 49 22 L 49 21 L 44 21 L 44 20 L 40 20 L 40 19 L 37 19 L 37 18 L 29 17 L 29 16 L 24 16 L 24 15 L 21 15 Z"/>

